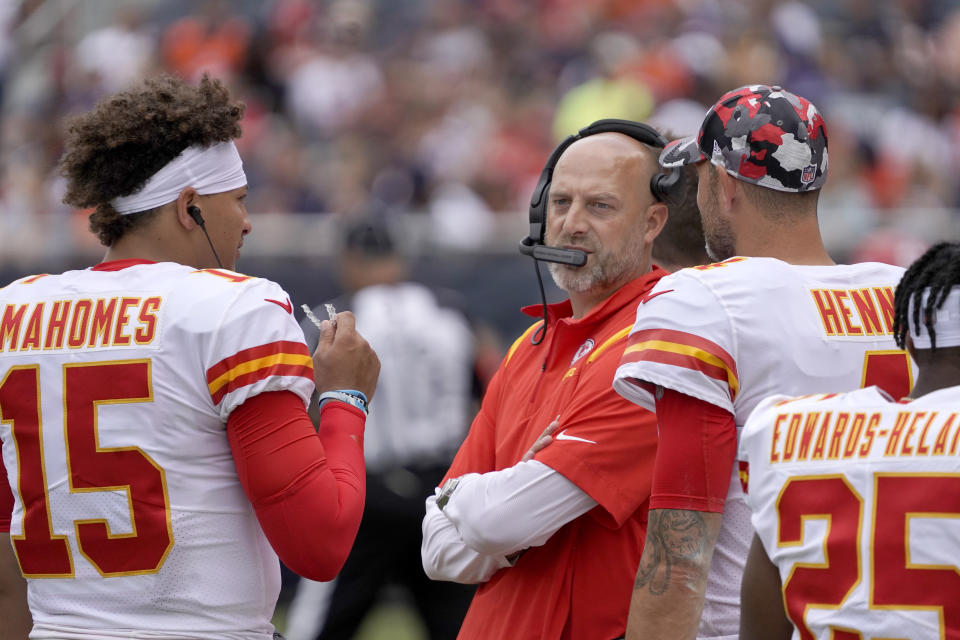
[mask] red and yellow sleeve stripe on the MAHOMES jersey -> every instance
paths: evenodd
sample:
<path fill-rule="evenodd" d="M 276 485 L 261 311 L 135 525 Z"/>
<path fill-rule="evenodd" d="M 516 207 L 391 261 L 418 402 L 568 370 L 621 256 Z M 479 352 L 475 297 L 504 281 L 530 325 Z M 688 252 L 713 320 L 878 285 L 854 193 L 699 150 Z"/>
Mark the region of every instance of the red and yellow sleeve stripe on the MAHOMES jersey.
<path fill-rule="evenodd" d="M 278 340 L 238 351 L 207 369 L 213 404 L 223 397 L 270 376 L 301 376 L 313 381 L 313 358 L 302 342 Z"/>

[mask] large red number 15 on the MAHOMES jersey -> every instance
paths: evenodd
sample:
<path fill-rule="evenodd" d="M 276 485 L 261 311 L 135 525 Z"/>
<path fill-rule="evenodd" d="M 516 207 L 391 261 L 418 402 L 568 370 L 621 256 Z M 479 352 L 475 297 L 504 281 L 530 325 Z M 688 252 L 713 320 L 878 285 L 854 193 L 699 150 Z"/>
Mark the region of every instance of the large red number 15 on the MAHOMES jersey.
<path fill-rule="evenodd" d="M 150 361 L 64 365 L 62 397 L 70 492 L 125 493 L 132 529 L 115 534 L 106 519 L 74 520 L 77 548 L 104 577 L 159 571 L 173 547 L 164 471 L 137 447 L 101 447 L 97 433 L 99 405 L 153 399 Z M 22 534 L 11 539 L 26 577 L 70 578 L 73 554 L 67 536 L 53 532 L 47 484 L 48 473 L 57 473 L 53 469 L 62 473 L 64 467 L 45 464 L 40 399 L 37 366 L 13 367 L 0 382 L 0 421 L 12 427 L 18 469 L 15 487 L 24 510 Z M 47 449 L 58 447 L 48 445 Z"/>

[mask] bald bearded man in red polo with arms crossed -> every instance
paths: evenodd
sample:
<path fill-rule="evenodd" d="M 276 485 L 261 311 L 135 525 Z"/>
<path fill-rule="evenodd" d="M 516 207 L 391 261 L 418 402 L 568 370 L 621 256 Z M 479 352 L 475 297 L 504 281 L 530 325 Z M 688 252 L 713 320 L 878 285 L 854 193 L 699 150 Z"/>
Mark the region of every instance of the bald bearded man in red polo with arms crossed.
<path fill-rule="evenodd" d="M 513 344 L 427 498 L 424 570 L 480 585 L 461 639 L 624 634 L 657 431 L 653 414 L 610 381 L 637 305 L 666 275 L 651 261 L 675 207 L 649 188 L 658 151 L 600 133 L 557 161 L 546 242 L 580 249 L 587 262 L 550 266 L 569 298 L 549 305 L 545 336 L 538 321 Z M 548 427 L 550 446 L 534 447 Z"/>

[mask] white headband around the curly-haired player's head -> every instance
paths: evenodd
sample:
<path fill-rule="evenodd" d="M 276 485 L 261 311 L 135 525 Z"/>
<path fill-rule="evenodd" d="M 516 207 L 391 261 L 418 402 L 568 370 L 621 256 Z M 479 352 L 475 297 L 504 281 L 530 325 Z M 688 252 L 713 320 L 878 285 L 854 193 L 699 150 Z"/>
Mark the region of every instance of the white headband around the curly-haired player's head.
<path fill-rule="evenodd" d="M 187 147 L 179 156 L 150 176 L 136 193 L 110 201 L 117 213 L 127 215 L 173 202 L 186 187 L 202 196 L 223 193 L 247 184 L 243 161 L 233 142 L 212 147 Z"/>

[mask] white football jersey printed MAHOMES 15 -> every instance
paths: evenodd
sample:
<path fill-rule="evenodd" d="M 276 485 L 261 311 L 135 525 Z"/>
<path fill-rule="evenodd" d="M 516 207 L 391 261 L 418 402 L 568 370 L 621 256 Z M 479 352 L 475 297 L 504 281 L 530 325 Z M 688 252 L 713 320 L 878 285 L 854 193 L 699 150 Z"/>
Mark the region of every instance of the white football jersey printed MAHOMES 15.
<path fill-rule="evenodd" d="M 313 389 L 268 280 L 129 261 L 0 289 L 0 437 L 31 638 L 270 638 L 279 563 L 225 425 L 256 394 L 306 403 Z"/>

